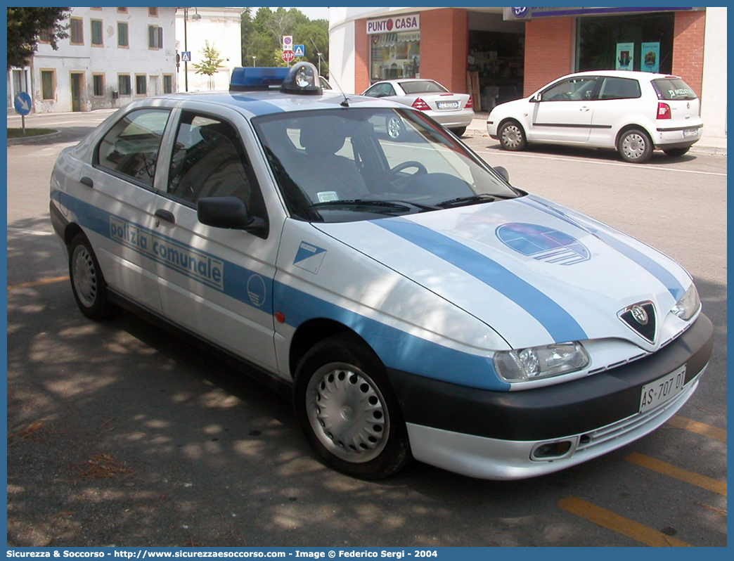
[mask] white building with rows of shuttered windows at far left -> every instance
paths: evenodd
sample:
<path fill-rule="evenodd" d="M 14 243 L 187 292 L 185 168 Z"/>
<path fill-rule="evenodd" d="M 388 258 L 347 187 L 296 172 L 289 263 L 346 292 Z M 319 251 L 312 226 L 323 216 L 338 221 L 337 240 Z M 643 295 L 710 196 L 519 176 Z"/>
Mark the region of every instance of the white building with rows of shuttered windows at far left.
<path fill-rule="evenodd" d="M 25 91 L 33 112 L 121 107 L 178 91 L 175 7 L 75 7 L 54 51 L 43 34 L 25 68 L 7 76 L 7 106 Z"/>

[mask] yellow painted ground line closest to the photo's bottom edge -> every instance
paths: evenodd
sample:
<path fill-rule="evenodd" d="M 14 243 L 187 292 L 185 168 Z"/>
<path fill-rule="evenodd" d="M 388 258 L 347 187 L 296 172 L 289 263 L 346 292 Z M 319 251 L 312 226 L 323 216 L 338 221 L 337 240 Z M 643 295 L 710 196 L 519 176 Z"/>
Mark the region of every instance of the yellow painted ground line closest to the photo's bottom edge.
<path fill-rule="evenodd" d="M 561 499 L 558 506 L 571 514 L 581 516 L 581 518 L 585 518 L 598 526 L 610 529 L 612 532 L 617 532 L 617 534 L 625 535 L 647 546 L 693 547 L 690 543 L 643 526 L 639 522 L 620 516 L 617 513 L 611 512 L 611 510 L 606 510 L 606 508 L 597 507 L 595 504 L 578 499 L 575 496 L 567 496 L 565 499 Z"/>

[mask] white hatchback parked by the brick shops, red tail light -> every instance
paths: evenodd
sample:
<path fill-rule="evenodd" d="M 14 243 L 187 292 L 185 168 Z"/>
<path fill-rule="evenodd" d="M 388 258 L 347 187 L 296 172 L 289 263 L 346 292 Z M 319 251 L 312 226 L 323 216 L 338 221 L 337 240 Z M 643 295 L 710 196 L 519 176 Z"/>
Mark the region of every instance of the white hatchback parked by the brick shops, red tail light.
<path fill-rule="evenodd" d="M 700 139 L 700 100 L 679 76 L 600 71 L 563 76 L 495 106 L 487 131 L 505 150 L 531 142 L 614 148 L 642 163 L 659 149 L 683 156 Z"/>

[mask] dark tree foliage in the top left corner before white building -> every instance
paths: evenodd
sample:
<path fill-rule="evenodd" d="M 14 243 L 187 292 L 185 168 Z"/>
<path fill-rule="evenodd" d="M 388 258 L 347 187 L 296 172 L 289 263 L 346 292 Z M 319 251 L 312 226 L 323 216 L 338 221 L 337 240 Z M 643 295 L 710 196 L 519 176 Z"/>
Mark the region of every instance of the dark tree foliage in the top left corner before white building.
<path fill-rule="evenodd" d="M 71 8 L 8 8 L 7 9 L 7 69 L 23 67 L 38 49 L 41 33 L 49 31 L 51 48 L 69 36 L 64 25 Z"/>

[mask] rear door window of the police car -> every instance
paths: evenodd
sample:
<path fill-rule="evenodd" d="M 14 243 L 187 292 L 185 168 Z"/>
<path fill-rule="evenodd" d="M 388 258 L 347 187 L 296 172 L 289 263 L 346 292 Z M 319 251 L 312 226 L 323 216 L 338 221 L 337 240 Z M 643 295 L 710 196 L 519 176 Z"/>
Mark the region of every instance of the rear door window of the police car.
<path fill-rule="evenodd" d="M 125 115 L 99 143 L 96 164 L 153 187 L 169 115 L 164 109 L 139 109 Z"/>

